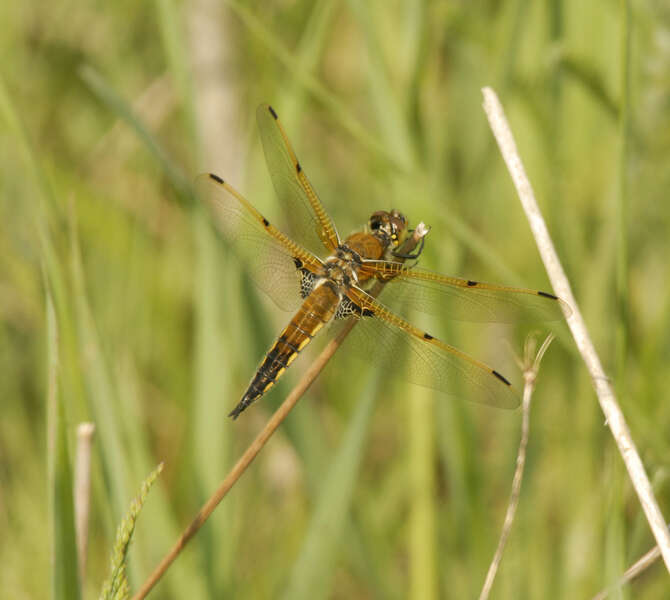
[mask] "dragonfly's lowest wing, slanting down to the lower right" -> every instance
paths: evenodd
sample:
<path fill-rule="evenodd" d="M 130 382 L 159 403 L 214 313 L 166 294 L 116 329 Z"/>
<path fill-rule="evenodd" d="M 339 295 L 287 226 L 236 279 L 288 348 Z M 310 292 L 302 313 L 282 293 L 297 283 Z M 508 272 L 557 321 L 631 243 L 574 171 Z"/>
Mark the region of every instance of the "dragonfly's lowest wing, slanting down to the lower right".
<path fill-rule="evenodd" d="M 499 408 L 516 408 L 519 397 L 500 373 L 441 342 L 392 313 L 363 290 L 353 288 L 355 327 L 344 341 L 346 351 L 360 354 L 389 374 Z"/>

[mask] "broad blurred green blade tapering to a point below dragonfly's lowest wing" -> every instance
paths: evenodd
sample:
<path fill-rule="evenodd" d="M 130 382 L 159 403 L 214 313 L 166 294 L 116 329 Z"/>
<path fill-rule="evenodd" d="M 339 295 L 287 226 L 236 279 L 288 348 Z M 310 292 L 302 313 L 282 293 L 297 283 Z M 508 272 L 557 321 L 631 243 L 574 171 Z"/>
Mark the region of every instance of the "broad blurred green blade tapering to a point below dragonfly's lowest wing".
<path fill-rule="evenodd" d="M 329 595 L 340 534 L 351 505 L 374 401 L 374 388 L 368 386 L 323 482 L 300 555 L 283 596 L 287 600 L 325 598 Z"/>

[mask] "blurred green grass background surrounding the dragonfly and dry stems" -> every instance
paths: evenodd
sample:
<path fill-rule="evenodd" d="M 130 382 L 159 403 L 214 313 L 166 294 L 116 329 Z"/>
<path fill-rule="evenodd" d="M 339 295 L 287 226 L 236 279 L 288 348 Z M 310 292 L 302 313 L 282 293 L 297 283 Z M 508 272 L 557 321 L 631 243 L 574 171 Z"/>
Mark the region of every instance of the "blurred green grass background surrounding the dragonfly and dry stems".
<path fill-rule="evenodd" d="M 480 88 L 498 91 L 668 517 L 670 7 L 631 4 L 1 3 L 2 595 L 67 589 L 78 423 L 97 426 L 91 598 L 155 464 L 133 589 L 309 364 L 226 418 L 288 315 L 190 186 L 213 171 L 276 216 L 262 101 L 341 233 L 396 207 L 433 228 L 423 266 L 549 289 L 481 109 Z M 529 333 L 431 326 L 501 367 L 501 340 L 520 352 Z M 588 598 L 653 545 L 567 328 L 551 329 L 494 598 Z M 476 597 L 520 411 L 386 379 L 336 356 L 152 597 Z M 622 596 L 668 589 L 657 563 Z"/>

